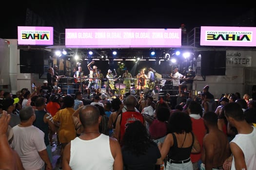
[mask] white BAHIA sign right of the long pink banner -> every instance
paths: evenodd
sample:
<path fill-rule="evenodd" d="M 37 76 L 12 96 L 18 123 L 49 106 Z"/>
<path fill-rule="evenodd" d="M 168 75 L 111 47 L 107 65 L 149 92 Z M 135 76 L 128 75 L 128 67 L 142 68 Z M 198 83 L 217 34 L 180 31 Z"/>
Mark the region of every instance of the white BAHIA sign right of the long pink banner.
<path fill-rule="evenodd" d="M 201 27 L 201 46 L 256 47 L 256 27 Z"/>

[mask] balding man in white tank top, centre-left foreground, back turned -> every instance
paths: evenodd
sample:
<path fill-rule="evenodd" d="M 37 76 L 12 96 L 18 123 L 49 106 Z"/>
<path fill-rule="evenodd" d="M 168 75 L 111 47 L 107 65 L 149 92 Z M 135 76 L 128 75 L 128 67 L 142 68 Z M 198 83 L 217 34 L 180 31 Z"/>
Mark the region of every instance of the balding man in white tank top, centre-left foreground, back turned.
<path fill-rule="evenodd" d="M 100 134 L 99 110 L 94 105 L 82 106 L 79 119 L 83 133 L 71 140 L 64 149 L 64 170 L 123 170 L 121 148 L 118 140 Z"/>

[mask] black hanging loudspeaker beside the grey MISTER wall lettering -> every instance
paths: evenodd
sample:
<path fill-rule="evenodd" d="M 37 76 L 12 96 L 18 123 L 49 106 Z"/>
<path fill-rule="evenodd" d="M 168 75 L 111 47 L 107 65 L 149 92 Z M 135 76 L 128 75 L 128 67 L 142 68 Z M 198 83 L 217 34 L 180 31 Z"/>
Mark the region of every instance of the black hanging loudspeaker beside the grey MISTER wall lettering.
<path fill-rule="evenodd" d="M 200 51 L 199 53 L 201 54 L 201 75 L 225 75 L 226 51 Z"/>

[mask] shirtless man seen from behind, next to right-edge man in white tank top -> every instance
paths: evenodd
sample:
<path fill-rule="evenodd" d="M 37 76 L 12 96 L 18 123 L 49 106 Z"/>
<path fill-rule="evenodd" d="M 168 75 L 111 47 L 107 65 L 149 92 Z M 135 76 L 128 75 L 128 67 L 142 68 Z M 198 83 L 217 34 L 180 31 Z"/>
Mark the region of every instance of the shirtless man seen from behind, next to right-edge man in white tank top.
<path fill-rule="evenodd" d="M 207 112 L 203 120 L 207 134 L 203 138 L 201 167 L 205 170 L 220 170 L 231 153 L 228 138 L 218 129 L 216 113 Z"/>

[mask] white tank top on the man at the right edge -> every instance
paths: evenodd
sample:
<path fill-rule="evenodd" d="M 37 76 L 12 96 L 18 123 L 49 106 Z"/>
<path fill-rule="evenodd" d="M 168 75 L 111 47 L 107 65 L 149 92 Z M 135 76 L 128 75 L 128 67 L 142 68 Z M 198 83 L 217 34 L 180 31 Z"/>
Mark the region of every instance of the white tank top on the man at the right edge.
<path fill-rule="evenodd" d="M 253 128 L 254 130 L 252 133 L 237 134 L 231 141 L 236 143 L 236 145 L 242 150 L 247 170 L 256 170 L 256 127 Z M 231 170 L 236 170 L 234 156 Z"/>

